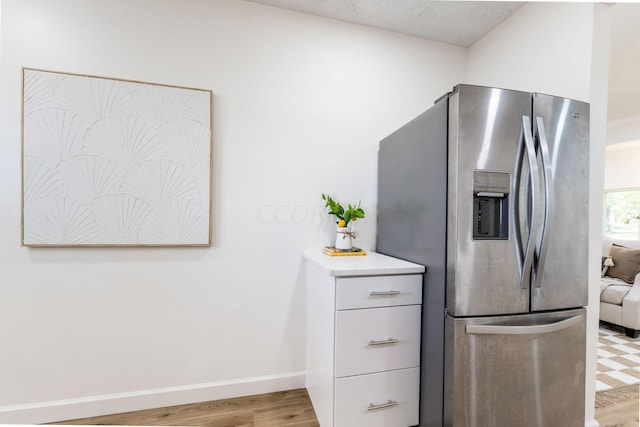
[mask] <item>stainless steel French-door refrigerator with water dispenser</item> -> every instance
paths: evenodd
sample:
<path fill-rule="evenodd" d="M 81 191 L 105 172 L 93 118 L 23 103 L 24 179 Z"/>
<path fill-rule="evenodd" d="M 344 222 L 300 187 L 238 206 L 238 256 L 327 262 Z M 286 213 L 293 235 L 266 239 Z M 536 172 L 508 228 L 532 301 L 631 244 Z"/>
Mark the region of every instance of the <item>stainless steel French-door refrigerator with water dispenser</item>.
<path fill-rule="evenodd" d="M 420 426 L 584 426 L 589 105 L 458 85 L 380 143 L 377 251 L 427 267 Z"/>

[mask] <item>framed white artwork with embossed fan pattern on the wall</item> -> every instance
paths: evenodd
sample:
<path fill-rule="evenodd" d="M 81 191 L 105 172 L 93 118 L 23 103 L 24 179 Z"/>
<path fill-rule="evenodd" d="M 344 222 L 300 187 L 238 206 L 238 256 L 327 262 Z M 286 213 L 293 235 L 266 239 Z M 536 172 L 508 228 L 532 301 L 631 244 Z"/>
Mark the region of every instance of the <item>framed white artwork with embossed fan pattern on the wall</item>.
<path fill-rule="evenodd" d="M 210 91 L 23 73 L 25 246 L 210 244 Z"/>

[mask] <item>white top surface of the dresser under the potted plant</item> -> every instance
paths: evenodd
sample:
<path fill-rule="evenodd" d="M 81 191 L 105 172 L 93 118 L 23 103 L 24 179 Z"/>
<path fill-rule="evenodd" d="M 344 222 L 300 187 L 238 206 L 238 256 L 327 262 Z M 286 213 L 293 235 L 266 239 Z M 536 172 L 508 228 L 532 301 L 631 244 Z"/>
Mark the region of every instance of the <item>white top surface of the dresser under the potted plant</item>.
<path fill-rule="evenodd" d="M 311 249 L 303 253 L 304 258 L 320 267 L 329 276 L 376 276 L 384 274 L 420 274 L 425 267 L 412 262 L 367 252 L 367 255 L 329 256 L 322 250 Z"/>

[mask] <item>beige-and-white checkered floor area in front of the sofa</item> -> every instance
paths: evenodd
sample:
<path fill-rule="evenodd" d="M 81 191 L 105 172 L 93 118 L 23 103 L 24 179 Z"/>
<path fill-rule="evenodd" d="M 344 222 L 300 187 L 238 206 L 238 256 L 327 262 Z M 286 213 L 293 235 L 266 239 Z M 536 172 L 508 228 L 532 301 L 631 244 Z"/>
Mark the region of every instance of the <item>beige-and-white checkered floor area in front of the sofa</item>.
<path fill-rule="evenodd" d="M 596 391 L 640 383 L 640 338 L 600 324 Z"/>

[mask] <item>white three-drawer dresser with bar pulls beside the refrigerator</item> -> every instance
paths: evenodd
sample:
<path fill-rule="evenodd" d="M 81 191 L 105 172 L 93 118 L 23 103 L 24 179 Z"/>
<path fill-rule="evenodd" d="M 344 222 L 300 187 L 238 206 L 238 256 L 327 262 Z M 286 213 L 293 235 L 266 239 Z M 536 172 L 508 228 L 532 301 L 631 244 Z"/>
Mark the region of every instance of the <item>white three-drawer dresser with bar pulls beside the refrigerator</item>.
<path fill-rule="evenodd" d="M 305 252 L 306 386 L 321 427 L 418 424 L 424 267 Z"/>

